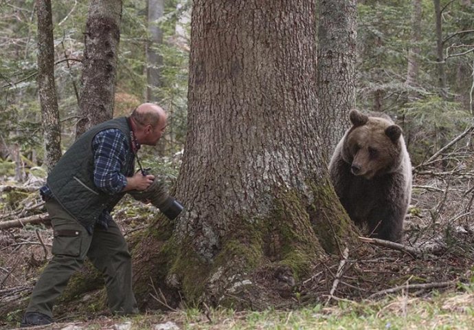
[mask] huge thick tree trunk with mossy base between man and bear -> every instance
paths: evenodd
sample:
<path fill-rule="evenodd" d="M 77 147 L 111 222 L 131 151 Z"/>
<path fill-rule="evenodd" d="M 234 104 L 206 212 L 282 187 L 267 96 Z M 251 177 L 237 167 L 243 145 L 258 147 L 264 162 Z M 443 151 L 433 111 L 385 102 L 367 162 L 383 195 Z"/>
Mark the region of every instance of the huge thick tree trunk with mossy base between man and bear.
<path fill-rule="evenodd" d="M 142 307 L 150 281 L 168 301 L 266 307 L 354 241 L 319 152 L 314 9 L 311 0 L 194 1 L 175 194 L 186 212 L 135 246 Z"/>

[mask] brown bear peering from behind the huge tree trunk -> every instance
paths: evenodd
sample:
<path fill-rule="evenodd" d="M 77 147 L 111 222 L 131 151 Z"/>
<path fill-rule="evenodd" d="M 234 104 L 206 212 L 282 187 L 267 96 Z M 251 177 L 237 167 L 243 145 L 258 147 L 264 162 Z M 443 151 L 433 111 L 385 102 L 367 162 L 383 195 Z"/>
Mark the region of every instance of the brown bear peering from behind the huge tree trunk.
<path fill-rule="evenodd" d="M 383 113 L 349 113 L 329 173 L 342 206 L 370 236 L 400 241 L 411 199 L 411 163 L 402 129 Z"/>

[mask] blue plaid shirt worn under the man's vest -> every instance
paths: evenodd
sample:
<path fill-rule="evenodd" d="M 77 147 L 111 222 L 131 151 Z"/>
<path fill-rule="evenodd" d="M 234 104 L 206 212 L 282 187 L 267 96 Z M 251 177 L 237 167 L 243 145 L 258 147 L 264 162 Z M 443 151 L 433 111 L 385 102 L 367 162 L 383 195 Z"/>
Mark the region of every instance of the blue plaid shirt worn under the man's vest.
<path fill-rule="evenodd" d="M 95 186 L 110 195 L 122 191 L 126 186 L 126 177 L 122 172 L 131 173 L 135 166 L 135 155 L 124 133 L 120 129 L 100 131 L 92 141 L 92 149 Z M 40 193 L 43 199 L 54 197 L 47 185 L 41 187 Z M 107 227 L 109 219 L 111 219 L 109 211 L 104 210 L 98 223 Z"/>

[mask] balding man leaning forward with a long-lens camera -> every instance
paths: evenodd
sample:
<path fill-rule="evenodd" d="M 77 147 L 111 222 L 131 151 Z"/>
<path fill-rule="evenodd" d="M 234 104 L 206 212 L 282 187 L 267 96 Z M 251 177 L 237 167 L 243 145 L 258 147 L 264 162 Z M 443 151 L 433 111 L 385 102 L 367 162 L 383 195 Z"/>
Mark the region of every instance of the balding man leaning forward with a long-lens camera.
<path fill-rule="evenodd" d="M 138 312 L 131 255 L 110 212 L 125 192 L 151 201 L 170 219 L 181 212 L 181 204 L 143 170 L 137 157 L 140 145 L 155 146 L 165 128 L 165 111 L 144 103 L 128 118 L 92 127 L 59 159 L 40 190 L 54 230 L 53 258 L 33 289 L 21 327 L 53 322 L 54 300 L 86 256 L 104 274 L 111 311 Z M 135 158 L 141 169 L 137 173 Z"/>

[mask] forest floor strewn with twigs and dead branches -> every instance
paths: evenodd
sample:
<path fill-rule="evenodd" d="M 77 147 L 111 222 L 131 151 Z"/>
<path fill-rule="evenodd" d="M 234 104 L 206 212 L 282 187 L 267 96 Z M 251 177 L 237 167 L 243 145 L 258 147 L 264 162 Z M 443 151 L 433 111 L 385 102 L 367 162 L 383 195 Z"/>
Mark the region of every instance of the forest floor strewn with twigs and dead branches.
<path fill-rule="evenodd" d="M 58 323 L 47 329 L 274 329 L 276 324 L 288 325 L 281 329 L 306 329 L 306 326 L 321 327 L 323 324 L 325 329 L 332 329 L 328 322 L 332 318 L 343 320 L 341 310 L 350 306 L 357 306 L 355 309 L 359 310 L 356 313 L 359 318 L 372 307 L 376 314 L 380 314 L 381 309 L 387 311 L 394 308 L 406 313 L 407 308 L 419 305 L 422 300 L 436 300 L 440 293 L 451 294 L 447 299 L 451 299 L 453 309 L 463 313 L 471 311 L 470 306 L 474 306 L 471 287 L 474 261 L 473 177 L 474 174 L 465 169 L 416 172 L 401 245 L 387 246 L 361 240 L 361 249 L 366 251 L 370 244 L 373 249 L 369 251 L 372 252 L 354 259 L 353 255 L 360 254 L 351 251 L 346 257 L 338 257 L 336 262 L 328 257 L 326 265 L 315 265 L 310 276 L 294 288 L 293 296 L 288 298 L 291 304 L 282 310 L 275 309 L 271 315 L 268 312 L 267 318 L 271 320 L 264 319 L 261 324 L 256 320 L 262 318 L 262 314 L 256 316 L 253 311 L 238 313 L 207 307 L 204 310 L 153 311 L 133 318 L 114 318 L 101 310 L 84 315 L 74 308 L 61 308 L 56 316 Z M 36 193 L 6 192 L 5 188 L 0 193 L 3 205 L 0 223 L 42 212 L 41 200 Z M 152 206 L 139 206 L 131 204 L 131 201 L 124 203 L 126 205 L 115 212 L 115 220 L 122 226 L 125 236 L 145 228 L 146 223 L 153 219 L 154 212 L 158 212 Z M 38 274 L 51 257 L 51 245 L 52 230 L 47 224 L 27 224 L 1 230 L 0 329 L 18 327 Z M 377 302 L 385 301 L 387 297 L 390 297 L 390 303 L 383 308 L 376 307 Z M 80 300 L 87 303 L 87 295 Z M 2 305 L 10 305 L 4 315 L 1 311 L 7 309 Z M 445 310 L 449 311 L 449 308 Z M 295 320 L 306 314 L 311 316 L 310 322 L 315 323 L 296 326 Z M 466 315 L 469 317 L 466 324 L 472 324 L 472 312 Z M 431 318 L 436 321 L 436 317 Z M 348 327 L 352 329 L 365 329 L 367 325 L 357 327 L 359 321 L 348 322 Z M 396 322 L 389 323 L 395 325 Z M 386 324 L 376 323 L 370 328 L 387 327 Z M 416 324 L 417 320 L 414 321 Z M 346 329 L 337 323 L 333 329 L 337 327 Z M 433 329 L 431 325 L 429 327 Z"/>

